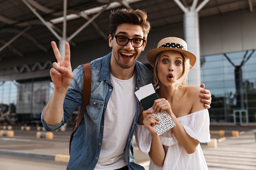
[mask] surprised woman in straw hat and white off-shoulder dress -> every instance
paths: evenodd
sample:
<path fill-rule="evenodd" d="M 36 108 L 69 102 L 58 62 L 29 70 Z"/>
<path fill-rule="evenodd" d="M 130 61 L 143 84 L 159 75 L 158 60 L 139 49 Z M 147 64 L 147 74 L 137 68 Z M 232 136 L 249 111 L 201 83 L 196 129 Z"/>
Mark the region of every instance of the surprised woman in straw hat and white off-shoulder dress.
<path fill-rule="evenodd" d="M 146 54 L 154 67 L 154 86 L 159 99 L 139 117 L 135 135 L 139 149 L 150 156 L 149 170 L 208 170 L 200 142 L 209 142 L 209 112 L 200 102 L 199 86 L 187 86 L 196 57 L 184 40 L 167 37 Z M 150 113 L 166 110 L 176 126 L 157 135 L 159 119 Z M 143 126 L 144 124 L 144 126 Z"/>

